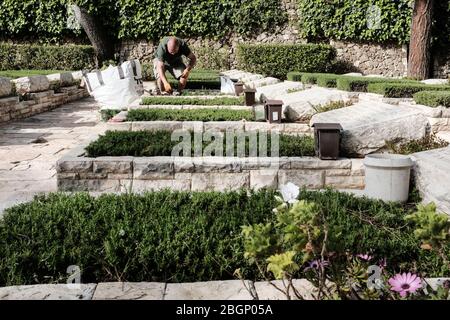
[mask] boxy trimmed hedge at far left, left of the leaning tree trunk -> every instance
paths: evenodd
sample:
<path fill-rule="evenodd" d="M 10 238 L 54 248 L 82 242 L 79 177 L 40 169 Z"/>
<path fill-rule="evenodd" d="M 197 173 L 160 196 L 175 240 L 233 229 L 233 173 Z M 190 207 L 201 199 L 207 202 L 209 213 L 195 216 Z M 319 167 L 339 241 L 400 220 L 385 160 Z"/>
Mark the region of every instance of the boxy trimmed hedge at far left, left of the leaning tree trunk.
<path fill-rule="evenodd" d="M 0 70 L 83 70 L 95 67 L 94 48 L 0 43 Z"/>

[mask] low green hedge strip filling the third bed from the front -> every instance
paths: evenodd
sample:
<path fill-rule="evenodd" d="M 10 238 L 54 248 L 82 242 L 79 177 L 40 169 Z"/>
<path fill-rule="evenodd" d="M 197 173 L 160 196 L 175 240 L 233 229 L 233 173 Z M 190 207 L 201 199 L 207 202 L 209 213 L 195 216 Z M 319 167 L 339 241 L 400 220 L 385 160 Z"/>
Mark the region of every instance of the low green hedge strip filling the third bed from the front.
<path fill-rule="evenodd" d="M 247 121 L 254 120 L 251 110 L 227 109 L 135 109 L 128 111 L 127 121 Z"/>

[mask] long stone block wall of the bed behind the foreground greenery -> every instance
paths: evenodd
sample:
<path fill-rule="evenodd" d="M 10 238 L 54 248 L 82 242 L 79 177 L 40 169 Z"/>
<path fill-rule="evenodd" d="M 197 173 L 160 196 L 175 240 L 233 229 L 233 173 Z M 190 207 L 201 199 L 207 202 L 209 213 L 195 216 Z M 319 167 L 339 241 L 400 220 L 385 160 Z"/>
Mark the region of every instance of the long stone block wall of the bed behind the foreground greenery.
<path fill-rule="evenodd" d="M 60 191 L 143 192 L 279 188 L 288 182 L 310 189 L 363 189 L 362 159 L 314 157 L 85 157 L 84 148 L 57 163 Z"/>

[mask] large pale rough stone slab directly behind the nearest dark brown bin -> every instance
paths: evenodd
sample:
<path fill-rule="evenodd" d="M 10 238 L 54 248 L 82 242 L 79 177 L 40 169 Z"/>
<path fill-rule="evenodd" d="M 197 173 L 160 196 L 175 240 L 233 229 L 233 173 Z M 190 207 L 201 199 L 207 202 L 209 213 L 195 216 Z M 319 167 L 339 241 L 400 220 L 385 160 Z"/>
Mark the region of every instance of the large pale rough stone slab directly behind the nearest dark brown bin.
<path fill-rule="evenodd" d="M 359 156 L 385 149 L 386 141 L 423 138 L 429 125 L 415 108 L 369 102 L 316 114 L 314 123 L 340 123 L 343 149 Z"/>

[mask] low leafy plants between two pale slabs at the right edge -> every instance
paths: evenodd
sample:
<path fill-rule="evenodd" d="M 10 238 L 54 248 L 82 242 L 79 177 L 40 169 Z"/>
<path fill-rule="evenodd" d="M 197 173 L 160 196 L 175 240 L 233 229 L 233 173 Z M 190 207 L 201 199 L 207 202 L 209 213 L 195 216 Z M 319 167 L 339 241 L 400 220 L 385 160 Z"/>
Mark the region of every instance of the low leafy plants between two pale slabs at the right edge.
<path fill-rule="evenodd" d="M 416 152 L 445 148 L 449 143 L 436 137 L 435 134 L 427 134 L 422 139 L 411 140 L 406 143 L 399 143 L 394 140 L 388 141 L 386 145 L 392 153 L 408 155 Z"/>

